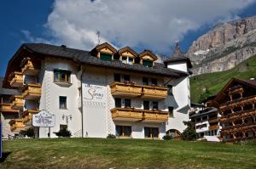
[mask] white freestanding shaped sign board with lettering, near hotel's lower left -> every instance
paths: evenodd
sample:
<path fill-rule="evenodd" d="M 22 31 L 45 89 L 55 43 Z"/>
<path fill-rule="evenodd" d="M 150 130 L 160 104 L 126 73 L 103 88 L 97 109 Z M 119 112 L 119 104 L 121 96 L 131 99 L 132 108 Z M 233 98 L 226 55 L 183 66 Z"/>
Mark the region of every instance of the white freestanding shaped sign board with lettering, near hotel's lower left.
<path fill-rule="evenodd" d="M 38 114 L 33 114 L 32 126 L 33 127 L 55 127 L 55 115 L 50 114 L 46 110 L 42 110 Z"/>

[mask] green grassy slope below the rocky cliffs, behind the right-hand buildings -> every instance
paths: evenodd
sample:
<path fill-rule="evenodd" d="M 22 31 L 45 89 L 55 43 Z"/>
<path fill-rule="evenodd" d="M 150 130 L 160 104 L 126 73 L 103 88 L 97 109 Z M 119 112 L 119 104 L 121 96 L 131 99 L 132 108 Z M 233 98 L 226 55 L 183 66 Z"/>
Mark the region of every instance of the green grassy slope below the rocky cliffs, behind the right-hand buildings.
<path fill-rule="evenodd" d="M 201 93 L 206 89 L 211 95 L 217 94 L 232 77 L 243 79 L 256 78 L 256 55 L 236 65 L 231 70 L 192 76 L 190 78 L 192 103 L 199 102 Z"/>

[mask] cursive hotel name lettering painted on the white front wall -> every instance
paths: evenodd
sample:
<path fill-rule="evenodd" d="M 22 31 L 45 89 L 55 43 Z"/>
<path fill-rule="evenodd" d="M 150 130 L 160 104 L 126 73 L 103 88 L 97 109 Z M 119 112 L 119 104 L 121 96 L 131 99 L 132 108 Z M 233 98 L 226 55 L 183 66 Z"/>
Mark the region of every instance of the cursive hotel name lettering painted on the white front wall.
<path fill-rule="evenodd" d="M 84 84 L 83 97 L 86 101 L 106 102 L 106 87 Z"/>

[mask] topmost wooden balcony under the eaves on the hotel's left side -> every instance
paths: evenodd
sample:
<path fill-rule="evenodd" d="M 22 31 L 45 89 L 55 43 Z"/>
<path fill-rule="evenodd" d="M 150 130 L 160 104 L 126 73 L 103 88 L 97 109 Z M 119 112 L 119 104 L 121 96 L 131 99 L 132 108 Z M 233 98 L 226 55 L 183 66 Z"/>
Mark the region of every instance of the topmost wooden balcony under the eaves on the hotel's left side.
<path fill-rule="evenodd" d="M 40 70 L 40 62 L 27 57 L 21 63 L 21 73 L 23 75 L 36 76 Z"/>

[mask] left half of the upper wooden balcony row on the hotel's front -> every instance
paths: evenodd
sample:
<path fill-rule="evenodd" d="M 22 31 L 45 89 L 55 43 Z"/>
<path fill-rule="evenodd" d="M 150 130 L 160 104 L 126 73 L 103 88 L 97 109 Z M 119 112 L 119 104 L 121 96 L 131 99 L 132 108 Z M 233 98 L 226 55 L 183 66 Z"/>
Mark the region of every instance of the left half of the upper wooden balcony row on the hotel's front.
<path fill-rule="evenodd" d="M 110 88 L 113 96 L 137 97 L 142 93 L 142 87 L 131 82 L 113 82 Z"/>

